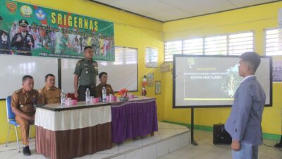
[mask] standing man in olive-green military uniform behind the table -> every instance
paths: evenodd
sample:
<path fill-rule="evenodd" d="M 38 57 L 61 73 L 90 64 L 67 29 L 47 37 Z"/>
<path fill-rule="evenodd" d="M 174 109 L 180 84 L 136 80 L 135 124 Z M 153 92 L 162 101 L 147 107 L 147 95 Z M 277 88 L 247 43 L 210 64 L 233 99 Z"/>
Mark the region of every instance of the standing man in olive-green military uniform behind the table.
<path fill-rule="evenodd" d="M 75 98 L 85 101 L 85 91 L 88 88 L 90 95 L 96 97 L 96 76 L 98 75 L 98 63 L 93 58 L 93 48 L 84 48 L 85 59 L 81 59 L 75 66 Z M 78 87 L 79 82 L 79 87 Z"/>

